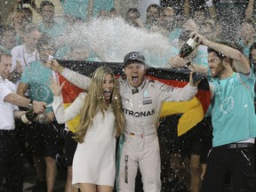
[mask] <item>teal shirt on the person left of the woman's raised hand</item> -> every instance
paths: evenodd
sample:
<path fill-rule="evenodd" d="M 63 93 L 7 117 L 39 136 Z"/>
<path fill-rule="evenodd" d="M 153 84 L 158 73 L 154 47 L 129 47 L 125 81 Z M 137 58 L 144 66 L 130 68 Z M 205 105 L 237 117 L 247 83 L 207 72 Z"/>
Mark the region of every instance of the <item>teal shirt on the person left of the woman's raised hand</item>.
<path fill-rule="evenodd" d="M 25 68 L 20 82 L 29 84 L 29 98 L 32 100 L 44 101 L 47 104 L 51 104 L 53 101 L 53 93 L 47 84 L 49 78 L 52 77 L 52 70 L 45 68 L 40 60 L 35 60 Z M 52 108 L 46 108 L 46 112 L 49 113 Z"/>

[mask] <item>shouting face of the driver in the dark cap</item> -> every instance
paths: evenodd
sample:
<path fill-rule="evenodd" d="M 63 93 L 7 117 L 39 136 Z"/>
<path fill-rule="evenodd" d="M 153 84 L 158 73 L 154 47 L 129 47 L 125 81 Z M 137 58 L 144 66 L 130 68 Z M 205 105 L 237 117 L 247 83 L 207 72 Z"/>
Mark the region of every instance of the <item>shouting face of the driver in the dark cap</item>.
<path fill-rule="evenodd" d="M 136 61 L 132 62 L 124 67 L 124 73 L 132 87 L 139 87 L 146 74 L 145 64 Z"/>

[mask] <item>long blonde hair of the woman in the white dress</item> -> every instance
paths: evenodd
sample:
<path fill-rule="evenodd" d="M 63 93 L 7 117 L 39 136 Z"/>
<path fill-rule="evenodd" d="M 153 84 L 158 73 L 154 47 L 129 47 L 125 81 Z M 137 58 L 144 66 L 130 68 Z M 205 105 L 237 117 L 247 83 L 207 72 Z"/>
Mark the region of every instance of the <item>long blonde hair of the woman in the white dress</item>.
<path fill-rule="evenodd" d="M 104 116 L 104 111 L 108 109 L 108 105 L 105 102 L 102 91 L 103 81 L 105 76 L 108 74 L 113 76 L 114 79 L 114 87 L 110 97 L 110 105 L 112 106 L 114 115 L 116 116 L 116 136 L 118 137 L 123 132 L 124 113 L 119 88 L 116 84 L 115 74 L 110 68 L 102 66 L 97 68 L 92 74 L 92 84 L 89 87 L 88 94 L 84 101 L 80 125 L 78 126 L 74 136 L 74 139 L 79 143 L 84 142 L 86 132 L 92 127 L 93 118 L 99 112 L 101 112 Z"/>

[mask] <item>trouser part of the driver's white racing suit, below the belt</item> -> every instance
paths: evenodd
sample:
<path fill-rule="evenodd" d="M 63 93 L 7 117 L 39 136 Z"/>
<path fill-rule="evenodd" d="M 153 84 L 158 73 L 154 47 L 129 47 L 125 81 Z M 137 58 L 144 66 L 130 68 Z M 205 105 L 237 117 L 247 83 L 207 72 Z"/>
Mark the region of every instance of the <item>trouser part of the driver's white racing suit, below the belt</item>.
<path fill-rule="evenodd" d="M 140 165 L 144 191 L 159 191 L 161 161 L 157 133 L 138 135 L 127 133 L 124 137 L 124 140 L 120 140 L 120 142 L 124 141 L 124 148 L 119 166 L 119 191 L 123 191 L 122 188 L 129 192 L 134 191 L 138 165 Z"/>

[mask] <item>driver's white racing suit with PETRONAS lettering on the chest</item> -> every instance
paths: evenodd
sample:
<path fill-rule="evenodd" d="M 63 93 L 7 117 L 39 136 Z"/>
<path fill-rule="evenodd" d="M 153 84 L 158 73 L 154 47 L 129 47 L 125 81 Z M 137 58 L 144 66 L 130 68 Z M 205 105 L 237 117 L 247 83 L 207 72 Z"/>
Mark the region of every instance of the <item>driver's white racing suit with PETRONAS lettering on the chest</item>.
<path fill-rule="evenodd" d="M 88 77 L 67 68 L 61 75 L 71 83 L 88 89 Z M 159 192 L 161 162 L 156 133 L 159 110 L 163 101 L 191 100 L 196 95 L 197 87 L 187 84 L 184 88 L 173 88 L 145 78 L 140 87 L 134 89 L 122 77 L 119 77 L 119 85 L 126 122 L 118 147 L 117 157 L 120 161 L 117 159 L 117 191 L 134 191 L 139 165 L 144 191 Z"/>

